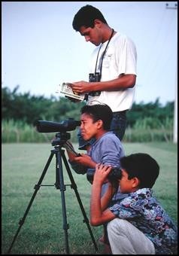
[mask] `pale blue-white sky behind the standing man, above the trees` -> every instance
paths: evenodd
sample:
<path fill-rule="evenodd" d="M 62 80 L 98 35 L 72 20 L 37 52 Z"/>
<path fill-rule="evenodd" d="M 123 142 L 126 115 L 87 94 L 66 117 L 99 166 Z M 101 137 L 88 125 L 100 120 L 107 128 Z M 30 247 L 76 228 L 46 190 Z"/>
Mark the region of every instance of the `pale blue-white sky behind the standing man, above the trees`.
<path fill-rule="evenodd" d="M 168 2 L 2 2 L 2 87 L 59 96 L 58 84 L 88 80 L 94 45 L 72 28 L 77 11 L 90 4 L 108 25 L 135 42 L 135 102 L 174 100 L 177 9 Z"/>

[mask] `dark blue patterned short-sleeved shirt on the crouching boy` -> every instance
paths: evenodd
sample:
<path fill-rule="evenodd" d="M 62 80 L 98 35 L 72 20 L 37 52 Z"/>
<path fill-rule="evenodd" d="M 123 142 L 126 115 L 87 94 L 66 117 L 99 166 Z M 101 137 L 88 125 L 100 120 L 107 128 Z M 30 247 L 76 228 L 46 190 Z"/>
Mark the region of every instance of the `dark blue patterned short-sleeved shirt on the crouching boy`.
<path fill-rule="evenodd" d="M 156 254 L 177 254 L 177 227 L 150 188 L 141 188 L 124 199 L 117 197 L 111 203 L 111 212 L 141 230 L 153 242 Z"/>

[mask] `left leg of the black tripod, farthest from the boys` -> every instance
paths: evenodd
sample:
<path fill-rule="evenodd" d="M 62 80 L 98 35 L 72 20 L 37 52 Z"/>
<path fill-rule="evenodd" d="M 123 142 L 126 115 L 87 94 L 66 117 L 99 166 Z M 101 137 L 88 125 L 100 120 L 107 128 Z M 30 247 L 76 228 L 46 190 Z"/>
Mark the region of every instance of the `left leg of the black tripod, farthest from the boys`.
<path fill-rule="evenodd" d="M 27 206 L 27 209 L 26 209 L 25 214 L 23 215 L 23 218 L 21 218 L 20 221 L 19 221 L 20 227 L 17 229 L 17 232 L 16 232 L 15 235 L 14 235 L 14 239 L 13 239 L 13 241 L 11 242 L 11 246 L 10 246 L 10 248 L 8 249 L 7 254 L 10 254 L 10 253 L 11 253 L 11 248 L 13 247 L 14 242 L 16 241 L 17 236 L 18 236 L 18 234 L 19 234 L 19 232 L 20 232 L 20 229 L 21 229 L 21 227 L 22 227 L 23 224 L 24 224 L 24 221 L 25 221 L 25 219 L 26 219 L 26 216 L 28 215 L 29 209 L 30 209 L 30 207 L 32 206 L 32 203 L 33 203 L 33 201 L 34 201 L 34 199 L 35 199 L 35 196 L 36 196 L 36 194 L 37 194 L 39 188 L 41 187 L 41 182 L 43 181 L 44 175 L 45 175 L 46 172 L 47 172 L 48 166 L 50 165 L 50 162 L 51 162 L 51 160 L 52 160 L 52 158 L 53 158 L 53 155 L 54 155 L 54 150 L 51 151 L 50 157 L 49 157 L 49 159 L 47 160 L 47 163 L 46 163 L 46 165 L 45 165 L 45 167 L 44 167 L 44 170 L 43 170 L 43 172 L 42 172 L 42 174 L 41 174 L 41 178 L 39 179 L 38 184 L 35 184 L 35 187 L 34 187 L 34 188 L 35 188 L 34 194 L 32 195 L 32 198 L 31 198 L 31 200 L 30 200 L 30 202 L 29 202 L 29 205 Z"/>

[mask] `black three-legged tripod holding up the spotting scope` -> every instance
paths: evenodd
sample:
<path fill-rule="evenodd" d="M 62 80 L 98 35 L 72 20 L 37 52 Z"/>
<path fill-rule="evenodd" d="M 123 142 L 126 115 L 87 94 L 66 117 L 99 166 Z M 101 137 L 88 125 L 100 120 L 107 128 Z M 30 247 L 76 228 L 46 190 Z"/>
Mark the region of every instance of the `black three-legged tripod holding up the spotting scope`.
<path fill-rule="evenodd" d="M 91 239 L 93 241 L 94 247 L 96 248 L 96 251 L 98 250 L 97 245 L 96 245 L 96 240 L 94 239 L 92 230 L 90 228 L 89 220 L 86 217 L 86 212 L 85 212 L 85 210 L 83 208 L 83 203 L 81 202 L 80 195 L 78 194 L 78 191 L 77 191 L 77 185 L 74 182 L 74 178 L 73 178 L 73 176 L 71 174 L 71 169 L 69 168 L 68 161 L 66 160 L 66 157 L 65 157 L 65 150 L 62 149 L 62 145 L 64 145 L 65 142 L 68 139 L 70 139 L 70 134 L 65 132 L 65 133 L 56 133 L 56 138 L 52 140 L 52 145 L 54 146 L 54 149 L 51 150 L 50 157 L 47 160 L 47 163 L 46 163 L 46 165 L 44 167 L 44 170 L 43 170 L 43 172 L 41 174 L 41 177 L 39 178 L 38 184 L 35 184 L 34 194 L 32 194 L 32 198 L 31 198 L 31 200 L 29 202 L 29 205 L 26 208 L 26 212 L 23 215 L 23 218 L 21 218 L 20 221 L 19 221 L 20 227 L 17 229 L 17 232 L 14 235 L 14 239 L 11 242 L 10 248 L 8 249 L 8 254 L 11 253 L 11 248 L 13 247 L 14 242 L 17 239 L 17 236 L 18 236 L 18 234 L 20 232 L 20 229 L 21 229 L 21 227 L 24 224 L 26 216 L 28 215 L 29 209 L 32 206 L 33 201 L 35 200 L 35 196 L 36 196 L 39 188 L 41 186 L 43 186 L 41 183 L 42 183 L 42 181 L 44 179 L 44 176 L 45 176 L 45 174 L 47 172 L 48 167 L 50 166 L 50 162 L 53 159 L 54 155 L 56 155 L 56 182 L 55 182 L 55 186 L 56 186 L 56 189 L 59 189 L 61 191 L 63 230 L 64 230 L 64 233 L 65 233 L 65 251 L 66 251 L 66 254 L 69 254 L 69 245 L 68 245 L 68 228 L 69 228 L 69 225 L 67 223 L 66 207 L 65 207 L 65 186 L 66 185 L 64 184 L 64 178 L 63 178 L 63 172 L 62 172 L 62 160 L 63 160 L 63 162 L 65 164 L 65 168 L 66 168 L 66 170 L 68 172 L 68 177 L 70 178 L 70 181 L 71 181 L 71 188 L 74 189 L 74 193 L 76 194 L 77 201 L 78 201 L 79 206 L 80 206 L 80 210 L 81 210 L 81 212 L 83 214 L 83 218 L 84 218 L 83 222 L 86 223 L 86 225 L 87 225 L 87 228 L 88 228 L 88 230 L 90 232 L 90 236 L 91 236 Z"/>

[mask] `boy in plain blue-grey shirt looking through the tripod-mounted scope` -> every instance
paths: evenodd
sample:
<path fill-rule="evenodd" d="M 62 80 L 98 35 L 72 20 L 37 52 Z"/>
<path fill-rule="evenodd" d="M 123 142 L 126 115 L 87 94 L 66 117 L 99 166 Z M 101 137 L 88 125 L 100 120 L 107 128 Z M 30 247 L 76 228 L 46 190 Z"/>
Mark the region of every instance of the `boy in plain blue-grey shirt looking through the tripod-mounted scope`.
<path fill-rule="evenodd" d="M 114 168 L 114 177 L 120 175 L 120 158 L 124 156 L 123 145 L 117 136 L 110 132 L 113 113 L 105 104 L 85 105 L 81 108 L 80 131 L 83 139 L 95 139 L 92 147 L 86 154 L 76 156 L 68 151 L 69 163 L 78 174 L 87 175 L 93 182 L 93 173 L 97 163 L 111 165 Z M 102 185 L 102 195 L 108 187 L 108 182 Z M 125 195 L 122 195 L 125 197 Z M 102 236 L 102 242 L 106 242 L 107 235 Z"/>

